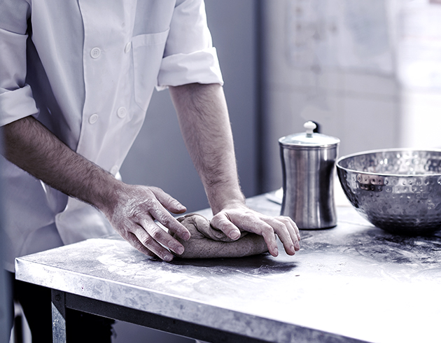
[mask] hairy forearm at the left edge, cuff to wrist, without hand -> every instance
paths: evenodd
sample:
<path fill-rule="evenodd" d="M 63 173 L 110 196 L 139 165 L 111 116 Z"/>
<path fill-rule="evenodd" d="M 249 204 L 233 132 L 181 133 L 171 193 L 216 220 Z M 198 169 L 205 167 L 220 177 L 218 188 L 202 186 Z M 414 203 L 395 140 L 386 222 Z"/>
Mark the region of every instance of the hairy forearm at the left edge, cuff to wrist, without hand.
<path fill-rule="evenodd" d="M 62 143 L 33 117 L 3 127 L 3 155 L 52 188 L 102 208 L 118 181 Z"/>

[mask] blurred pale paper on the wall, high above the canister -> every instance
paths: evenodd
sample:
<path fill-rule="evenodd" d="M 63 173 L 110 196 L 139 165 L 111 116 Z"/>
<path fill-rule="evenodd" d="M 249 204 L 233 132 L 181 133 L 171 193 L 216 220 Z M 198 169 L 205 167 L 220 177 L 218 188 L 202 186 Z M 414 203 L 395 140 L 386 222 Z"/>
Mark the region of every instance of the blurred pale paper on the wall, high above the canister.
<path fill-rule="evenodd" d="M 288 62 L 300 68 L 393 73 L 386 0 L 286 2 Z"/>

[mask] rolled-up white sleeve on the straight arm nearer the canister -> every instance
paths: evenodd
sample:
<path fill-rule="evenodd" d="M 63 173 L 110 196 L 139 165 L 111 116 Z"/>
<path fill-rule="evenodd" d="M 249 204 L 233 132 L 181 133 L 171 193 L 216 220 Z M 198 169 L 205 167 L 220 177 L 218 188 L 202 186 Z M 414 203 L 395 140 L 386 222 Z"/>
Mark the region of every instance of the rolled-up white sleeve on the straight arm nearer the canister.
<path fill-rule="evenodd" d="M 223 85 L 203 0 L 178 1 L 170 25 L 157 88 L 188 83 Z"/>

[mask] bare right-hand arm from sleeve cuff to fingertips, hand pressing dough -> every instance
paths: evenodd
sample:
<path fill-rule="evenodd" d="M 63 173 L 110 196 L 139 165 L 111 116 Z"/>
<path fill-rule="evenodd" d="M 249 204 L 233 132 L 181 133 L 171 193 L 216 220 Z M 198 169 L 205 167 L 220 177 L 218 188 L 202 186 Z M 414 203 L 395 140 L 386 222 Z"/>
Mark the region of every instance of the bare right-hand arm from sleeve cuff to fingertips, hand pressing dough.
<path fill-rule="evenodd" d="M 221 85 L 170 87 L 181 131 L 200 174 L 214 217 L 211 225 L 231 239 L 240 231 L 265 239 L 269 253 L 279 254 L 276 235 L 289 255 L 300 246 L 300 235 L 288 217 L 272 218 L 246 207 L 239 187 L 228 109 Z"/>

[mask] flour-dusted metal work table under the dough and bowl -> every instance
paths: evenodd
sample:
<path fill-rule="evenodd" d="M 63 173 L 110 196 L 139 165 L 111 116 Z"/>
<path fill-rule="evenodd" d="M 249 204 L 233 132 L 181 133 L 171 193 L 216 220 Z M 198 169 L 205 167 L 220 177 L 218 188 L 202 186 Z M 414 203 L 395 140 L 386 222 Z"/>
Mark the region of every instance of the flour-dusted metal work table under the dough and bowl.
<path fill-rule="evenodd" d="M 279 215 L 265 195 L 248 205 Z M 18 258 L 16 277 L 52 288 L 59 342 L 65 307 L 210 342 L 440 342 L 441 235 L 337 215 L 335 228 L 302 230 L 294 256 L 167 263 L 112 236 Z"/>

